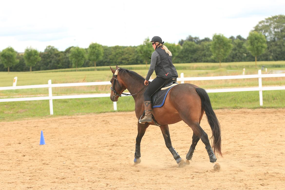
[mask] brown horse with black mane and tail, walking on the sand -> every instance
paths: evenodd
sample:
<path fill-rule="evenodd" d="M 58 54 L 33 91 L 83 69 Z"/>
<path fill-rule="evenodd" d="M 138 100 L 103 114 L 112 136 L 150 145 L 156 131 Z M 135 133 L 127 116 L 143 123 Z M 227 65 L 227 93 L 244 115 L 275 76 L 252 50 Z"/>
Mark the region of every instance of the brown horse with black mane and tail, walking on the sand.
<path fill-rule="evenodd" d="M 139 120 L 144 113 L 143 93 L 146 90 L 144 78 L 134 71 L 119 68 L 117 65 L 116 69 L 111 68 L 111 66 L 110 69 L 113 73 L 110 80 L 112 85 L 110 94 L 111 101 L 118 101 L 119 97 L 124 94 L 123 91 L 128 89 L 130 94 L 124 95 L 133 96 L 135 100 L 135 114 Z M 211 138 L 213 138 L 213 149 L 211 148 L 208 135 L 200 126 L 204 112 L 212 130 Z M 209 96 L 204 89 L 190 83 L 175 85 L 168 92 L 164 105 L 160 108 L 152 109 L 152 115 L 156 122 L 160 124 L 160 130 L 166 147 L 171 152 L 174 160 L 176 160 L 178 167 L 190 164 L 189 160 L 192 159 L 195 147 L 201 139 L 205 144 L 210 162 L 213 163 L 214 170 L 220 169 L 220 165 L 216 162 L 217 158 L 215 154 L 218 153 L 222 156 L 221 129 L 219 121 L 212 109 Z M 192 144 L 186 154 L 186 162 L 180 158 L 180 155 L 172 147 L 168 128 L 169 124 L 174 124 L 181 120 L 193 130 Z M 139 123 L 139 121 L 137 123 L 138 134 L 136 138 L 134 164 L 139 164 L 141 162 L 141 140 L 149 125 L 155 125 L 155 123 L 146 122 L 142 124 Z"/>

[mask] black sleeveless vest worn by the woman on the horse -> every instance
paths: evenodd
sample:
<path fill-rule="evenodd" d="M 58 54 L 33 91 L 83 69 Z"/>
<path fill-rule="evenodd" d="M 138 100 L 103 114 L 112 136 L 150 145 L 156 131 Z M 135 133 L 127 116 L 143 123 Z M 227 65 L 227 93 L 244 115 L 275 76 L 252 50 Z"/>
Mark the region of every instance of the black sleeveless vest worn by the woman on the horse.
<path fill-rule="evenodd" d="M 160 56 L 160 62 L 156 63 L 154 67 L 156 76 L 162 77 L 164 79 L 178 77 L 177 71 L 172 64 L 171 56 L 169 56 L 161 46 L 157 47 L 155 51 Z"/>

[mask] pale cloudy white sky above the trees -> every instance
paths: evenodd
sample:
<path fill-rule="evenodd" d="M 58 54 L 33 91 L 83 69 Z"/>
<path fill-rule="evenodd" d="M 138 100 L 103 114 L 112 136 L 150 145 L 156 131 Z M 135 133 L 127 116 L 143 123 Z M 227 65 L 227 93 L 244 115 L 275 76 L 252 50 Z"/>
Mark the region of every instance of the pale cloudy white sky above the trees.
<path fill-rule="evenodd" d="M 259 21 L 280 14 L 285 15 L 284 0 L 1 1 L 0 51 L 138 46 L 153 36 L 176 44 L 189 35 L 247 38 Z"/>

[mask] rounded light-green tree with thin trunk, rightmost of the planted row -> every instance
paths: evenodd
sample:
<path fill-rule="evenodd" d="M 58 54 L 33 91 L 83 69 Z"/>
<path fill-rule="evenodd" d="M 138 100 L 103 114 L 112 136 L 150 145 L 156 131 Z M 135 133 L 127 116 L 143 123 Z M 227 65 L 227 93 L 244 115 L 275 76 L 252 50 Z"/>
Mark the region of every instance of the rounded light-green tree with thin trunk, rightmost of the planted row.
<path fill-rule="evenodd" d="M 255 67 L 257 68 L 256 57 L 264 53 L 264 50 L 267 48 L 266 38 L 262 33 L 252 31 L 249 32 L 249 36 L 247 37 L 247 44 L 247 49 L 255 56 Z"/>

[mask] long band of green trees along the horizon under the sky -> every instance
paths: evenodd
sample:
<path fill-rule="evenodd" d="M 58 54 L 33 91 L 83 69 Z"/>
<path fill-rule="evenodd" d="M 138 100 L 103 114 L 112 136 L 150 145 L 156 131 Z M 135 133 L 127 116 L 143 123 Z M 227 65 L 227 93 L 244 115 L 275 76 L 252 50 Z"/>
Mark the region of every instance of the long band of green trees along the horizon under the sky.
<path fill-rule="evenodd" d="M 139 46 L 102 46 L 91 43 L 88 48 L 69 47 L 59 51 L 47 46 L 44 52 L 32 47 L 17 53 L 12 47 L 0 52 L 0 71 L 36 71 L 63 68 L 109 66 L 114 64 L 149 64 L 153 48 L 146 38 Z M 214 34 L 200 39 L 188 36 L 178 44 L 164 43 L 172 52 L 173 63 L 243 62 L 285 60 L 285 16 L 276 15 L 260 21 L 245 39 L 226 38 Z"/>

